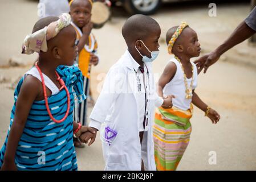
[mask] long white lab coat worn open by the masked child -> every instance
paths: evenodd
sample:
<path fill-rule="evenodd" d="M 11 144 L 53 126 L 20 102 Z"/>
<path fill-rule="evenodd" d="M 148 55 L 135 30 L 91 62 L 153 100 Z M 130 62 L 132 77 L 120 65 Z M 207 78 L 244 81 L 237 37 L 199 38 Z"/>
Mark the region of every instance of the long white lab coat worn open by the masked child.
<path fill-rule="evenodd" d="M 156 170 L 153 143 L 153 119 L 155 105 L 158 107 L 163 100 L 157 96 L 152 74 L 152 64 L 147 63 L 149 70 L 149 123 L 148 131 L 144 132 L 142 145 L 139 138 L 139 110 L 136 104 L 137 81 L 132 68 L 132 56 L 125 51 L 119 61 L 114 64 L 105 78 L 100 96 L 90 115 L 91 127 L 99 129 L 101 123 L 117 132 L 111 146 L 103 144 L 105 170 L 141 170 L 143 158 L 145 170 Z M 103 126 L 104 127 L 104 126 Z M 104 128 L 103 130 L 104 137 Z M 102 132 L 101 132 L 102 134 Z"/>

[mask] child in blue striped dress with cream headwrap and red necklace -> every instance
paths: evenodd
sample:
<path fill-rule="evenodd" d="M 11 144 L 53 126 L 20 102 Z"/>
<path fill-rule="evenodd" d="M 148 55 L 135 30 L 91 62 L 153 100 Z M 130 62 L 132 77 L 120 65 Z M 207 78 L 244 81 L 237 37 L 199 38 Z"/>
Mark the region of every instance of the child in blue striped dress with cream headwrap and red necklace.
<path fill-rule="evenodd" d="M 71 67 L 78 54 L 70 15 L 36 22 L 22 53 L 39 61 L 14 92 L 10 126 L 0 151 L 2 170 L 77 170 L 73 134 L 95 129 L 73 121 L 74 100 L 83 101 L 82 73 Z M 42 89 L 43 88 L 43 89 Z"/>

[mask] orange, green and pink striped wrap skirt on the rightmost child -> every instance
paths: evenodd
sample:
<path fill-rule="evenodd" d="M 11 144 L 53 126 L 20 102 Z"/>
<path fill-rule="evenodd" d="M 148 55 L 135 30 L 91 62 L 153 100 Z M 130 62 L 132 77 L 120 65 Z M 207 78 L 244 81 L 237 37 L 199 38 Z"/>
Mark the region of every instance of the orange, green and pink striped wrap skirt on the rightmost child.
<path fill-rule="evenodd" d="M 171 109 L 156 109 L 153 138 L 157 170 L 176 170 L 189 144 L 192 113 L 192 105 L 186 111 L 174 106 Z"/>

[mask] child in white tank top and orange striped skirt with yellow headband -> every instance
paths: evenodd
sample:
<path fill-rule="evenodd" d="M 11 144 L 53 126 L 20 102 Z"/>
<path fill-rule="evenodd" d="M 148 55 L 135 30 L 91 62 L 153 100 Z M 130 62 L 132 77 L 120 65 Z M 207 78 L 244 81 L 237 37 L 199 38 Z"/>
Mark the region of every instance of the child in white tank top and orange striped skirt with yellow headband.
<path fill-rule="evenodd" d="M 168 52 L 174 55 L 159 79 L 159 96 L 172 95 L 172 107 L 159 107 L 155 114 L 153 137 L 157 170 L 176 170 L 189 143 L 193 106 L 205 112 L 212 123 L 220 115 L 198 97 L 197 67 L 190 58 L 200 55 L 196 32 L 182 22 L 166 34 Z"/>

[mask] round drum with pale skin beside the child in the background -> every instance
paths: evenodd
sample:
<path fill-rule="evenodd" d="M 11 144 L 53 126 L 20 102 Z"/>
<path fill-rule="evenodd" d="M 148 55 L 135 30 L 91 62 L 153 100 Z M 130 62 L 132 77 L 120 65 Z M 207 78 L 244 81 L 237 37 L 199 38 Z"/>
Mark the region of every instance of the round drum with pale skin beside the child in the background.
<path fill-rule="evenodd" d="M 104 2 L 96 1 L 92 5 L 91 22 L 94 28 L 101 28 L 110 18 L 110 9 Z"/>

